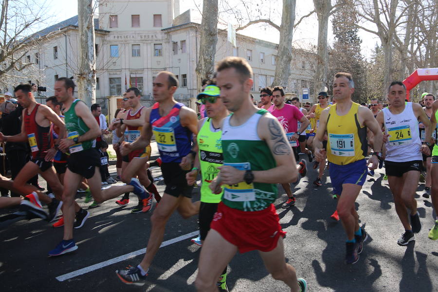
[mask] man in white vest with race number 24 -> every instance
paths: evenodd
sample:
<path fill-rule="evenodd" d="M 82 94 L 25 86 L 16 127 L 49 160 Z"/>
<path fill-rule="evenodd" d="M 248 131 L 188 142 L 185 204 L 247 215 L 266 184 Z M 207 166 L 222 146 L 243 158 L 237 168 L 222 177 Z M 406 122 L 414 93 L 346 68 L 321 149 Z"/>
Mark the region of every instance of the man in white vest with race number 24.
<path fill-rule="evenodd" d="M 429 155 L 431 142 L 430 121 L 419 104 L 405 102 L 406 88 L 402 82 L 394 81 L 388 88 L 389 107 L 377 115 L 377 121 L 385 129 L 386 175 L 394 197 L 397 215 L 405 232 L 397 240 L 399 245 L 408 245 L 420 232 L 420 214 L 417 212 L 415 191 L 421 171 L 421 152 Z M 426 142 L 421 145 L 418 122 L 426 130 Z M 406 208 L 410 210 L 410 223 Z"/>

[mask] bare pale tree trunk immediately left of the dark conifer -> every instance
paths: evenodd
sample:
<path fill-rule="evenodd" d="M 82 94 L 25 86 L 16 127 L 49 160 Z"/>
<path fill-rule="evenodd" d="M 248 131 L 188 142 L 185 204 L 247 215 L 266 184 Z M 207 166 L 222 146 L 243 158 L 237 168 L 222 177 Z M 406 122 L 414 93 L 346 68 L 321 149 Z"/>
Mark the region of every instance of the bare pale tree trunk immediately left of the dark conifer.
<path fill-rule="evenodd" d="M 332 6 L 330 0 L 313 0 L 313 4 L 318 17 L 317 62 L 313 82 L 314 91 L 319 92 L 324 91 L 324 87 L 326 86 L 327 82 L 327 70 L 329 68 L 327 34 L 329 29 L 329 16 Z"/>

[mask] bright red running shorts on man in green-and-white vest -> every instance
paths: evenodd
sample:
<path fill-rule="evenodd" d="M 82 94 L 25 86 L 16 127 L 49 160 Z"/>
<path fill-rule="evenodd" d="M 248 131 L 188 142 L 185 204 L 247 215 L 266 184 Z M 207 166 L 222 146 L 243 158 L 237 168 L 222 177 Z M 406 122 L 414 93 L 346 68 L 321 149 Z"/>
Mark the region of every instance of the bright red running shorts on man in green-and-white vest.
<path fill-rule="evenodd" d="M 286 234 L 281 230 L 274 204 L 264 210 L 245 212 L 220 202 L 210 227 L 236 245 L 241 254 L 253 250 L 270 252 L 278 238 Z"/>

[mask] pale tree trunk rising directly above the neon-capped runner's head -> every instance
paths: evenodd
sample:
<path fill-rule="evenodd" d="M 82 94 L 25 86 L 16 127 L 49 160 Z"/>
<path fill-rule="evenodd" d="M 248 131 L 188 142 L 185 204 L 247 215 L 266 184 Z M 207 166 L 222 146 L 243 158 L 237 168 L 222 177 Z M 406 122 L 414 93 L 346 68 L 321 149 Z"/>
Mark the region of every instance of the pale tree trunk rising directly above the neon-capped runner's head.
<path fill-rule="evenodd" d="M 203 0 L 199 59 L 195 70 L 198 92 L 201 92 L 202 79 L 213 76 L 217 42 L 218 0 Z"/>

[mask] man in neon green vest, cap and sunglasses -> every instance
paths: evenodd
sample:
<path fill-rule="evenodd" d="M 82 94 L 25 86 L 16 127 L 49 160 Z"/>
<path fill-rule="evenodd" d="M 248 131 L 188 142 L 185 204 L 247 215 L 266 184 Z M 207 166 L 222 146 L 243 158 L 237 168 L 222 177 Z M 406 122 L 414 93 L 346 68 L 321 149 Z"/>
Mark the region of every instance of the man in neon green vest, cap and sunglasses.
<path fill-rule="evenodd" d="M 222 120 L 228 115 L 228 110 L 223 105 L 219 96 L 219 87 L 210 85 L 203 92 L 198 94 L 198 100 L 205 105 L 207 110 L 207 118 L 198 122 L 197 144 L 199 147 L 199 155 L 196 156 L 192 171 L 187 173 L 187 184 L 193 185 L 196 183 L 198 171 L 201 171 L 201 206 L 199 208 L 199 230 L 200 242 L 202 245 L 207 233 L 210 230 L 210 223 L 218 209 L 218 203 L 222 197 L 220 194 L 214 194 L 210 190 L 210 182 L 218 175 L 218 167 L 223 164 L 220 125 Z M 200 161 L 201 159 L 201 161 Z M 196 243 L 196 242 L 195 242 Z M 228 291 L 226 284 L 227 267 L 219 276 L 217 286 L 219 291 Z"/>

